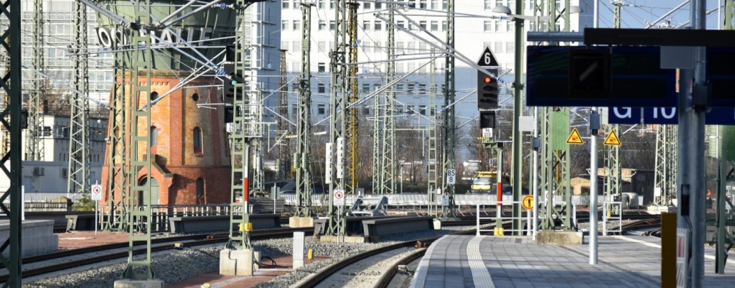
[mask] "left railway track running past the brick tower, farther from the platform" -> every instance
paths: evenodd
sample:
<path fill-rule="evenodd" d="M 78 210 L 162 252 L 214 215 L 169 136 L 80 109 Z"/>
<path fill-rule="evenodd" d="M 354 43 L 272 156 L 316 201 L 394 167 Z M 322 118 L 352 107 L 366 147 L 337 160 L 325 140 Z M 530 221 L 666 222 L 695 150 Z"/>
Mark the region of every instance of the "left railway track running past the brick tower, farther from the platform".
<path fill-rule="evenodd" d="M 265 240 L 265 239 L 273 239 L 273 238 L 292 237 L 293 232 L 295 231 L 304 231 L 306 232 L 306 234 L 311 234 L 313 232 L 313 228 L 279 228 L 279 229 L 253 231 L 250 239 L 251 240 Z M 151 240 L 151 242 L 155 242 L 155 243 L 172 242 L 172 243 L 151 247 L 151 252 L 178 249 L 179 247 L 177 247 L 176 243 L 174 242 L 179 242 L 179 241 L 184 241 L 184 240 L 195 239 L 193 241 L 186 242 L 185 244 L 187 246 L 209 245 L 209 244 L 227 242 L 227 240 L 229 240 L 228 236 L 229 234 L 219 233 L 219 234 L 198 234 L 198 235 L 187 235 L 187 236 L 181 236 L 181 237 L 158 238 L 156 240 Z M 204 239 L 202 239 L 202 237 L 204 237 Z M 140 244 L 136 244 L 136 245 L 142 246 L 143 244 L 144 242 L 140 242 Z M 88 248 L 72 249 L 68 251 L 58 251 L 54 253 L 47 253 L 43 255 L 26 257 L 23 259 L 23 262 L 31 263 L 31 262 L 47 261 L 50 259 L 59 259 L 65 256 L 79 255 L 79 254 L 84 254 L 84 253 L 105 251 L 105 250 L 111 250 L 115 248 L 125 248 L 125 247 L 128 247 L 127 242 L 107 244 L 107 245 L 97 245 L 97 246 L 88 247 Z M 138 255 L 141 253 L 146 253 L 145 247 L 137 248 L 133 250 L 134 255 Z M 106 261 L 110 261 L 114 259 L 126 258 L 127 256 L 128 256 L 128 251 L 108 253 L 108 254 L 104 254 L 101 256 L 92 256 L 92 257 L 88 257 L 85 259 L 79 259 L 79 260 L 63 262 L 59 264 L 50 264 L 50 265 L 43 266 L 43 267 L 27 269 L 27 270 L 24 270 L 23 273 L 21 273 L 21 275 L 23 278 L 31 277 L 31 276 L 38 276 L 38 275 L 43 275 L 46 273 L 53 273 L 57 271 L 68 270 L 74 267 L 80 267 L 80 266 L 84 266 L 88 264 L 95 264 L 95 263 L 106 262 Z M 26 262 L 26 259 L 29 262 Z M 7 274 L 0 275 L 0 283 L 4 283 L 5 281 L 7 281 L 7 278 L 8 278 Z"/>

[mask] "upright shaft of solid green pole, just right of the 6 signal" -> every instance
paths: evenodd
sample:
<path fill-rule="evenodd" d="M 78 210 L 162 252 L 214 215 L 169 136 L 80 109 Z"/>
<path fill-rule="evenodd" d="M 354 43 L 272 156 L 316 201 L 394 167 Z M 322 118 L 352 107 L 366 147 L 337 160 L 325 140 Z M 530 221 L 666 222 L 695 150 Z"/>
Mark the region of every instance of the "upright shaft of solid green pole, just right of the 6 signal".
<path fill-rule="evenodd" d="M 524 1 L 515 2 L 515 12 L 523 15 Z M 513 81 L 513 234 L 520 235 L 520 195 L 523 192 L 523 136 L 520 133 L 518 120 L 523 111 L 523 32 L 524 21 L 520 18 L 515 19 L 515 68 L 513 70 L 515 79 Z M 500 176 L 498 176 L 500 177 Z"/>

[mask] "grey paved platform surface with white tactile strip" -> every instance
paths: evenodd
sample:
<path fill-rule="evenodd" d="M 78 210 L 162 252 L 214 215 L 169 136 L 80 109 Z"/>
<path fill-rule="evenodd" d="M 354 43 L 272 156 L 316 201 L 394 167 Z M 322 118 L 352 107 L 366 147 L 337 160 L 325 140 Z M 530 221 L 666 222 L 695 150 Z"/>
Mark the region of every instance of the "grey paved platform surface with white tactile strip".
<path fill-rule="evenodd" d="M 537 245 L 528 237 L 447 235 L 421 259 L 411 287 L 661 287 L 661 244 L 655 237 L 599 237 L 598 264 L 589 246 Z M 735 260 L 714 273 L 705 248 L 705 287 L 735 283 Z"/>

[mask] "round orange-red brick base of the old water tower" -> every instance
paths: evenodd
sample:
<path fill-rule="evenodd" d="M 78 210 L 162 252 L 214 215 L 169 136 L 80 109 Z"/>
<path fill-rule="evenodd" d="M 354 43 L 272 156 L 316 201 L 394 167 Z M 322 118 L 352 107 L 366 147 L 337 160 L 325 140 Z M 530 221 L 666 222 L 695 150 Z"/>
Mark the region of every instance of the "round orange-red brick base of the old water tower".
<path fill-rule="evenodd" d="M 212 81 L 200 77 L 187 84 L 188 87 L 162 96 L 179 84 L 179 78 L 164 71 L 156 71 L 151 77 L 151 99 L 158 99 L 151 107 L 151 152 L 154 154 L 151 204 L 229 203 L 230 160 L 223 106 L 198 106 L 222 102 L 216 87 L 201 87 L 211 85 Z M 130 103 L 129 98 L 127 101 Z M 138 122 L 140 133 L 147 132 L 145 119 Z M 110 130 L 108 136 L 112 133 Z M 131 130 L 126 129 L 123 133 L 131 133 Z M 110 148 L 107 143 L 107 151 Z M 143 159 L 144 151 L 145 147 L 139 147 L 139 159 Z M 102 169 L 104 203 L 107 203 L 110 187 L 109 157 L 108 152 Z M 138 171 L 137 179 L 144 183 L 146 171 Z M 115 191 L 115 200 L 119 201 L 119 197 L 120 192 Z"/>

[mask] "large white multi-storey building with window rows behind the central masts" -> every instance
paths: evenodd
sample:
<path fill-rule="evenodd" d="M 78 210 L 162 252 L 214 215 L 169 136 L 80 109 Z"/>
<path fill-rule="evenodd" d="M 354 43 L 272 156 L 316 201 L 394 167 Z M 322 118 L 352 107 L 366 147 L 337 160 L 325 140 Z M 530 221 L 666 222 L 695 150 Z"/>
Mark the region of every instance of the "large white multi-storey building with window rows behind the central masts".
<path fill-rule="evenodd" d="M 571 29 L 579 31 L 584 26 L 591 26 L 592 23 L 592 1 L 591 0 L 573 0 L 573 5 L 579 5 L 584 11 L 582 14 L 572 15 Z M 298 77 L 301 73 L 301 10 L 298 4 L 300 0 L 282 0 L 282 21 L 281 21 L 281 48 L 287 49 L 287 69 L 289 71 L 289 79 Z M 329 115 L 329 51 L 334 44 L 334 5 L 331 1 L 317 0 L 316 7 L 312 8 L 312 120 L 322 120 Z M 428 16 L 439 15 L 437 12 L 427 12 L 426 10 L 445 11 L 446 0 L 408 0 L 410 7 L 416 9 L 401 10 L 404 14 L 410 15 L 418 26 L 429 30 L 431 34 L 440 40 L 445 40 L 446 33 L 446 17 Z M 534 1 L 526 0 L 526 15 L 533 15 L 531 3 Z M 384 11 L 387 4 L 380 2 L 358 1 L 358 26 L 357 35 L 359 38 L 359 54 L 358 62 L 370 62 L 376 60 L 387 59 L 387 24 L 376 18 L 373 13 Z M 490 11 L 496 5 L 505 5 L 514 10 L 514 0 L 484 0 L 484 1 L 455 1 L 455 12 L 467 13 L 473 15 L 493 15 Z M 557 5 L 561 5 L 557 1 Z M 420 16 L 416 16 L 420 15 Z M 497 15 L 497 14 L 495 14 Z M 384 14 L 387 18 L 387 15 Z M 580 20 L 582 19 L 582 20 Z M 430 39 L 432 43 L 438 43 L 431 39 L 426 33 L 420 32 L 417 26 L 410 24 L 405 18 L 399 15 L 395 16 L 395 23 L 398 26 L 406 27 L 415 32 L 424 39 Z M 528 28 L 529 24 L 526 24 Z M 471 60 L 478 60 L 485 46 L 490 46 L 501 64 L 501 73 L 508 69 L 512 69 L 514 65 L 514 23 L 508 20 L 495 20 L 491 18 L 455 18 L 455 47 L 456 50 Z M 396 29 L 395 32 L 395 51 L 398 59 L 414 58 L 416 55 L 401 56 L 401 54 L 429 53 L 431 46 L 422 40 L 406 34 Z M 428 55 L 423 55 L 428 56 Z M 406 60 L 395 63 L 398 76 L 413 71 L 421 65 L 426 64 L 429 60 Z M 443 108 L 442 89 L 444 83 L 444 58 L 440 57 L 434 62 L 437 67 L 435 82 L 437 83 L 437 91 L 439 91 L 439 109 Z M 456 105 L 457 123 L 464 123 L 475 117 L 477 112 L 476 93 L 471 93 L 477 87 L 477 72 L 475 68 L 471 68 L 464 62 L 456 60 L 456 99 L 462 98 L 467 94 L 473 94 L 464 101 Z M 417 73 L 413 73 L 401 83 L 396 85 L 398 101 L 396 109 L 399 115 L 406 117 L 398 118 L 398 120 L 406 119 L 409 110 L 421 111 L 426 108 L 428 99 L 426 97 L 426 87 L 428 87 L 430 79 L 430 66 L 426 65 Z M 375 64 L 359 65 L 360 73 L 360 96 L 365 96 L 371 91 L 376 90 L 383 85 L 382 77 L 385 73 L 386 65 L 384 62 Z M 506 89 L 501 89 L 501 101 L 509 95 L 510 82 L 512 82 L 513 74 L 508 73 L 503 76 Z M 291 82 L 289 90 L 295 91 L 298 85 L 296 81 Z M 290 110 L 291 115 L 295 115 L 295 106 L 298 104 L 298 94 L 290 93 Z M 372 104 L 373 101 L 368 101 Z M 512 100 L 506 101 L 504 104 L 512 104 Z M 373 115 L 372 107 L 367 107 L 365 112 Z M 364 113 L 361 113 L 364 114 Z M 415 119 L 413 117 L 412 119 Z M 327 123 L 324 121 L 323 123 Z"/>

